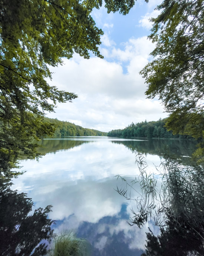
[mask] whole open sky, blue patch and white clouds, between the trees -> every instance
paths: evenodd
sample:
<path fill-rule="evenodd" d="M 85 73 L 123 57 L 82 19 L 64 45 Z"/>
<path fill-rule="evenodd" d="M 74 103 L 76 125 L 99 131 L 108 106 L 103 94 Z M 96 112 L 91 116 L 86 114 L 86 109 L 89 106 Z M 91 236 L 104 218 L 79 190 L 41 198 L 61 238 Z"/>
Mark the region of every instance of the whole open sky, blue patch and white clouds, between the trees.
<path fill-rule="evenodd" d="M 108 132 L 124 129 L 132 122 L 157 121 L 168 116 L 158 98 L 147 99 L 147 85 L 139 71 L 152 60 L 155 45 L 147 39 L 149 18 L 160 0 L 138 0 L 129 14 L 107 14 L 105 7 L 94 9 L 92 17 L 104 35 L 99 46 L 104 59 L 77 54 L 64 59 L 63 66 L 50 67 L 50 85 L 78 95 L 73 102 L 58 103 L 47 117 Z"/>

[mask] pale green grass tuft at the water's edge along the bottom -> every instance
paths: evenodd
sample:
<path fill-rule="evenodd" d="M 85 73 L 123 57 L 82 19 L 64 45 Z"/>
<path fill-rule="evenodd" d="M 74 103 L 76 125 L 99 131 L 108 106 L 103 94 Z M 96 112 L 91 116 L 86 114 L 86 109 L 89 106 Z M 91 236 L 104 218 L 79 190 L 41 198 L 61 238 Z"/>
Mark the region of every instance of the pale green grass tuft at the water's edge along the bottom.
<path fill-rule="evenodd" d="M 83 238 L 77 238 L 72 232 L 62 233 L 53 241 L 50 256 L 89 256 L 91 244 Z"/>

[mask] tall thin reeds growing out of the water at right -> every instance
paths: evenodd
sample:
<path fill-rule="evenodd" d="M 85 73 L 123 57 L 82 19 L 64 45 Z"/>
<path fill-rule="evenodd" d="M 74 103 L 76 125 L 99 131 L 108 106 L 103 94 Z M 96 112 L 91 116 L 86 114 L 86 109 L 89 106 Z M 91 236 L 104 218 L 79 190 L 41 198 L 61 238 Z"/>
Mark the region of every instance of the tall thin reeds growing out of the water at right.
<path fill-rule="evenodd" d="M 204 241 L 204 166 L 196 162 L 182 162 L 173 156 L 165 155 L 156 167 L 155 176 L 147 172 L 147 162 L 143 154 L 135 152 L 140 175 L 131 183 L 124 178 L 125 186 L 116 191 L 128 200 L 134 200 L 137 211 L 132 209 L 130 225 L 142 227 L 154 220 L 159 227 L 167 225 L 167 219 L 174 223 L 174 229 L 184 232 L 186 227 L 193 230 L 194 236 Z M 157 185 L 160 177 L 161 186 Z M 139 183 L 142 193 L 131 198 L 134 184 Z"/>

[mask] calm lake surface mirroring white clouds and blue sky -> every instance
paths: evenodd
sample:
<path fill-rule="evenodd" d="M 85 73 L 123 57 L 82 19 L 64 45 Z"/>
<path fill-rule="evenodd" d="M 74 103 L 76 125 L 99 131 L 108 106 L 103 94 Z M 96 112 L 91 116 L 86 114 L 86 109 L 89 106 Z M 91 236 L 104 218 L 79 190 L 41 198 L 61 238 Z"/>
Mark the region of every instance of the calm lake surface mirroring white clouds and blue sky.
<path fill-rule="evenodd" d="M 93 256 L 139 256 L 144 251 L 148 225 L 154 234 L 159 228 L 128 225 L 134 202 L 115 189 L 121 186 L 116 175 L 133 180 L 139 171 L 133 151 L 146 155 L 148 168 L 166 147 L 185 158 L 194 145 L 187 140 L 131 140 L 108 137 L 44 139 L 46 155 L 37 161 L 22 160 L 23 175 L 13 180 L 12 189 L 27 193 L 35 208 L 53 205 L 49 218 L 56 220 L 55 233 L 74 231 L 92 244 Z M 139 187 L 137 188 L 139 191 Z"/>

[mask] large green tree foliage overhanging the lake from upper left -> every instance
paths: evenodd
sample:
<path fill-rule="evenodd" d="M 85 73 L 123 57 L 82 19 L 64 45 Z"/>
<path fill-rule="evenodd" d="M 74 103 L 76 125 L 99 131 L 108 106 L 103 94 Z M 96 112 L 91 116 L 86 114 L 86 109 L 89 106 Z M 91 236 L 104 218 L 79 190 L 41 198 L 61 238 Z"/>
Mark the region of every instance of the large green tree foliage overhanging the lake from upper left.
<path fill-rule="evenodd" d="M 105 7 L 125 15 L 134 3 L 105 0 Z M 47 83 L 48 65 L 62 64 L 74 52 L 86 59 L 90 51 L 103 58 L 98 50 L 103 31 L 91 17 L 100 6 L 101 0 L 0 0 L 1 172 L 8 174 L 21 155 L 39 157 L 33 140 L 55 130 L 44 120 L 45 111 L 77 97 Z"/>

